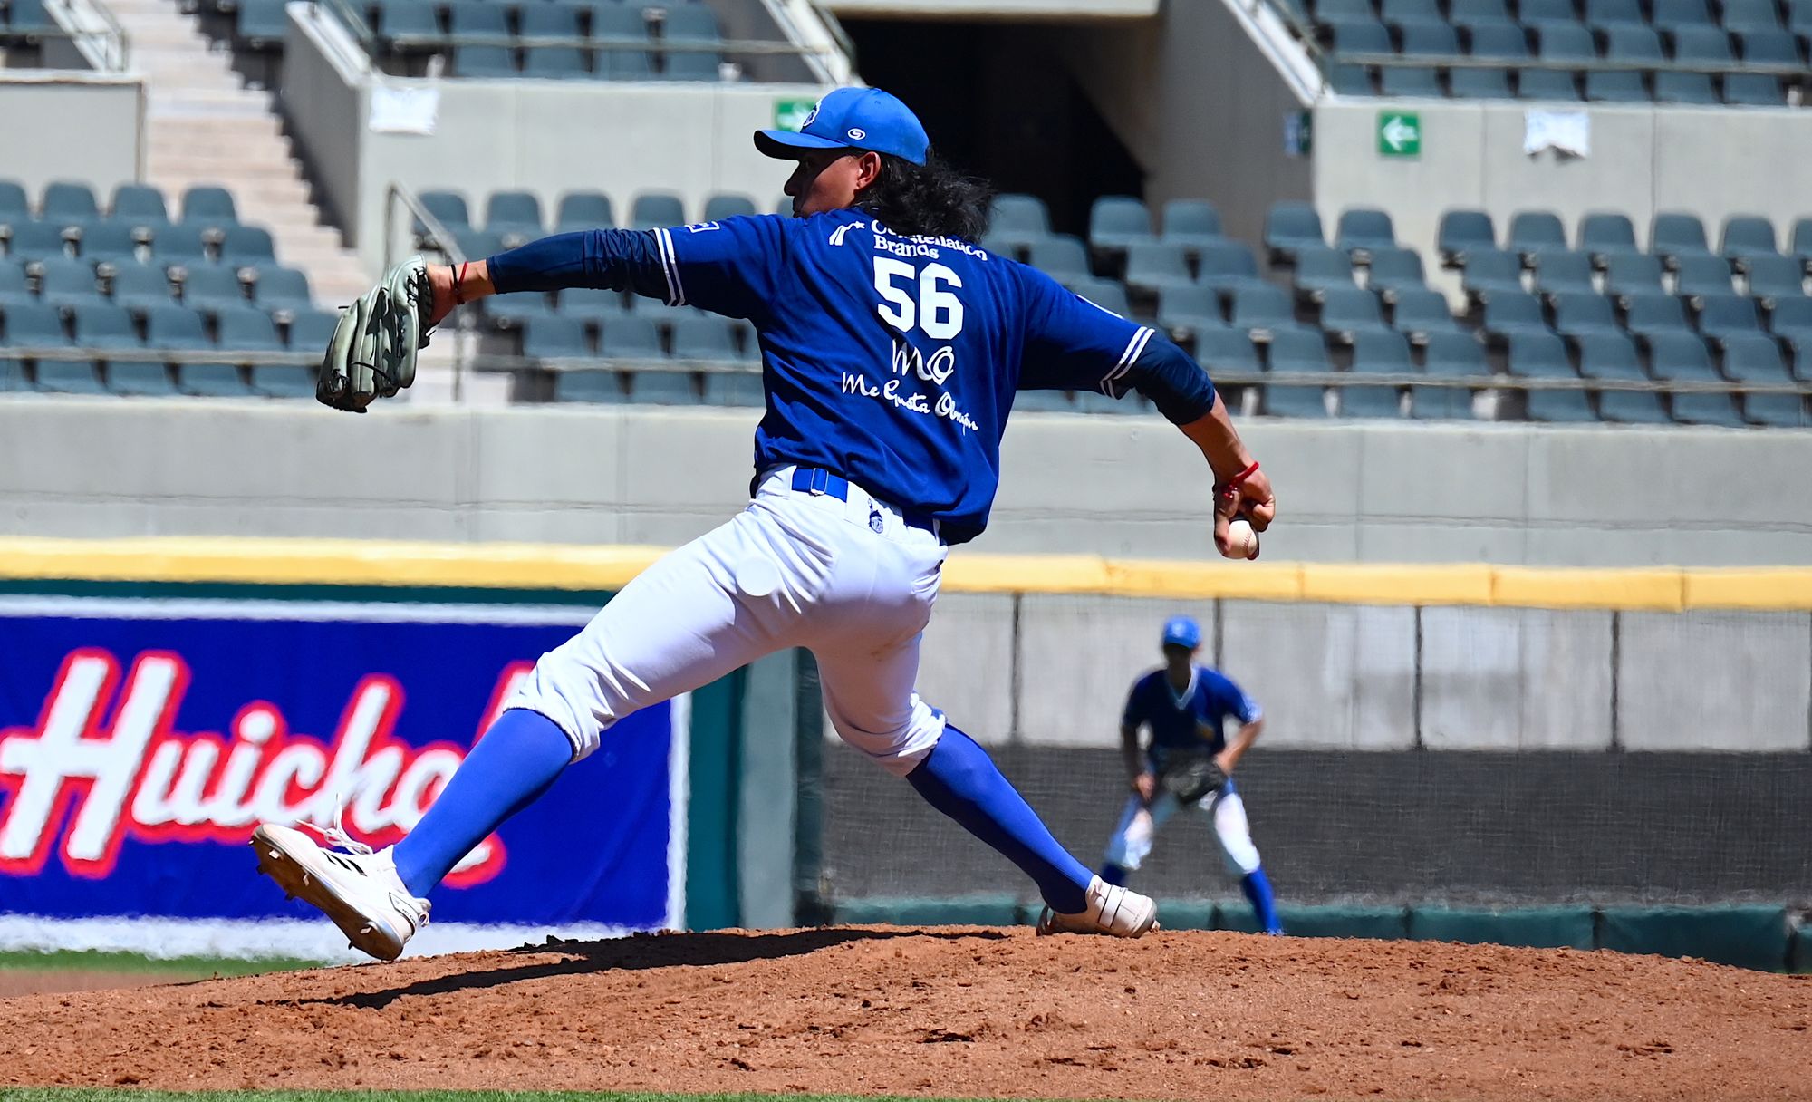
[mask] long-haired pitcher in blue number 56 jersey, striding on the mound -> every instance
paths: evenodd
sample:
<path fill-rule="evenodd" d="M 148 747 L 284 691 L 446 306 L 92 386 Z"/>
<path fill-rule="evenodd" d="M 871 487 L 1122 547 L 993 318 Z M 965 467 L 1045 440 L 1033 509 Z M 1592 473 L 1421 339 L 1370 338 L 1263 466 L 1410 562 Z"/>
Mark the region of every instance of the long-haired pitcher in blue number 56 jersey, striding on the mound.
<path fill-rule="evenodd" d="M 263 872 L 373 957 L 397 957 L 435 884 L 618 720 L 781 647 L 817 656 L 844 741 L 1036 883 L 1040 932 L 1138 937 L 1156 924 L 1151 899 L 1093 875 L 988 752 L 919 700 L 922 631 L 944 556 L 988 526 L 1018 390 L 1149 395 L 1212 471 L 1223 555 L 1236 517 L 1272 520 L 1270 482 L 1189 355 L 975 245 L 988 190 L 944 167 L 893 96 L 837 89 L 803 130 L 754 141 L 792 161 L 794 218 L 560 234 L 457 268 L 413 261 L 328 348 L 319 397 L 362 410 L 408 384 L 422 334 L 460 304 L 632 290 L 750 319 L 766 395 L 748 508 L 544 654 L 402 841 L 373 854 L 337 830 L 324 832 L 335 848 L 284 825 L 254 834 Z"/>

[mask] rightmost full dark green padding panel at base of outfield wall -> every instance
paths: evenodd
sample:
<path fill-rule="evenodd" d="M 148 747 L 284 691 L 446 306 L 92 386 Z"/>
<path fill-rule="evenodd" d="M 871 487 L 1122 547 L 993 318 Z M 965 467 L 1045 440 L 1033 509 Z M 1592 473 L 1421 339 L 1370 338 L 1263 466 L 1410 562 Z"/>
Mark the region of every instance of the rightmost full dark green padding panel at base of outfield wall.
<path fill-rule="evenodd" d="M 1779 972 L 1787 966 L 1785 906 L 1607 906 L 1598 948 Z"/>

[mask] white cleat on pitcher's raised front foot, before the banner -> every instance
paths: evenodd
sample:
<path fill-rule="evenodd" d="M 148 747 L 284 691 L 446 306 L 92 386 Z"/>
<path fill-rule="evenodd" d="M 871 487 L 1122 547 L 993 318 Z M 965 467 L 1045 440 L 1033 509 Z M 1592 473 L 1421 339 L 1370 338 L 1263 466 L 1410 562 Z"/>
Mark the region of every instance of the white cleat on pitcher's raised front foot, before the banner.
<path fill-rule="evenodd" d="M 350 852 L 319 846 L 301 830 L 265 823 L 252 832 L 257 870 L 277 881 L 292 899 L 333 919 L 352 939 L 352 948 L 379 961 L 395 961 L 415 932 L 428 924 L 428 901 L 410 895 L 388 848 L 373 854 L 371 846 L 339 830 L 326 837 Z"/>

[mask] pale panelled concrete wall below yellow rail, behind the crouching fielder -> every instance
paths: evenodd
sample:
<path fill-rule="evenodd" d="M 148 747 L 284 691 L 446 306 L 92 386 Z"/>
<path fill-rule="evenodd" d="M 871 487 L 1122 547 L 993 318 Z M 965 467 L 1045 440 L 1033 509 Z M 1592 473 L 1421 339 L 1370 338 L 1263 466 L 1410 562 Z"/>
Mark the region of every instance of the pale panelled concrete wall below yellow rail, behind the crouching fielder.
<path fill-rule="evenodd" d="M 1812 750 L 1805 613 L 955 594 L 926 631 L 919 692 L 989 745 L 1113 749 L 1176 613 L 1265 709 L 1270 749 Z"/>

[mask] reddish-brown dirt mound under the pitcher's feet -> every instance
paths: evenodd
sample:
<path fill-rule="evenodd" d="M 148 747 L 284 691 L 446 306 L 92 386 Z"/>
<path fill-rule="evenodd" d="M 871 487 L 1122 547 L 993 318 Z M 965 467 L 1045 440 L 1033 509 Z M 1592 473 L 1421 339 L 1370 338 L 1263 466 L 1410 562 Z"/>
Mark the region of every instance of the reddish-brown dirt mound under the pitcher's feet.
<path fill-rule="evenodd" d="M 1435 942 L 676 933 L 0 1000 L 0 1086 L 1812 1098 L 1812 979 Z"/>

